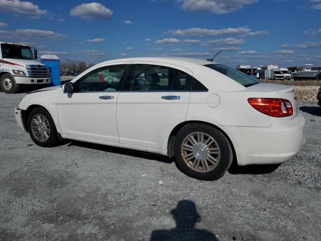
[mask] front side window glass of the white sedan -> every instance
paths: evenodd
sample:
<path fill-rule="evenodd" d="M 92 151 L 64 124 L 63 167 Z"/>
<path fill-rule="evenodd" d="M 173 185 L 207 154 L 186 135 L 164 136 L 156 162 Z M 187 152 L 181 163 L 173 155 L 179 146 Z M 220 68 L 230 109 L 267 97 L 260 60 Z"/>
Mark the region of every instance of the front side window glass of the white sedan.
<path fill-rule="evenodd" d="M 95 69 L 74 83 L 76 92 L 119 91 L 120 79 L 126 65 L 111 65 Z"/>

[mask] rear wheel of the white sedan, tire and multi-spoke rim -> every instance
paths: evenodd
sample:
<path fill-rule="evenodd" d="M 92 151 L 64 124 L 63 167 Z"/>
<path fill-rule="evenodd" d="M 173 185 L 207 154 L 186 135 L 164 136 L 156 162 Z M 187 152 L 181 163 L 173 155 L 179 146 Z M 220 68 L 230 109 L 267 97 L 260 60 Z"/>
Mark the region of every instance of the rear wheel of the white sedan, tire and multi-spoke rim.
<path fill-rule="evenodd" d="M 191 136 L 196 141 L 194 144 Z M 222 177 L 233 161 L 233 151 L 226 137 L 204 124 L 185 126 L 176 137 L 174 151 L 178 168 L 199 180 L 211 181 Z"/>

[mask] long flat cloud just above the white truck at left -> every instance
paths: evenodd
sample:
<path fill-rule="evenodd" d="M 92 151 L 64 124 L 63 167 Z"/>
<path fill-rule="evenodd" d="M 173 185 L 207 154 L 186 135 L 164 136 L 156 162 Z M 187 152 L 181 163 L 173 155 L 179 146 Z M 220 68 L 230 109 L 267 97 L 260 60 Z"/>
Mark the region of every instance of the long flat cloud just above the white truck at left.
<path fill-rule="evenodd" d="M 18 29 L 14 34 L 19 37 L 32 38 L 32 39 L 50 39 L 50 40 L 62 40 L 66 39 L 67 36 L 58 34 L 53 31 L 39 30 L 39 29 Z"/>

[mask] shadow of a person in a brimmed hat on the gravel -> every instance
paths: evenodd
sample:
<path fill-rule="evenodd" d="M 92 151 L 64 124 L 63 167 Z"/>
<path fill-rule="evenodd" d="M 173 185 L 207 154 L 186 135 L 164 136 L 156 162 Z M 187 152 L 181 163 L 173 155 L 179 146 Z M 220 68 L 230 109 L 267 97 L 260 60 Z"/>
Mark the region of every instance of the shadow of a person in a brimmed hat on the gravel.
<path fill-rule="evenodd" d="M 218 241 L 212 232 L 195 228 L 196 223 L 201 221 L 201 216 L 193 201 L 179 201 L 171 213 L 177 226 L 170 230 L 152 231 L 150 241 Z"/>

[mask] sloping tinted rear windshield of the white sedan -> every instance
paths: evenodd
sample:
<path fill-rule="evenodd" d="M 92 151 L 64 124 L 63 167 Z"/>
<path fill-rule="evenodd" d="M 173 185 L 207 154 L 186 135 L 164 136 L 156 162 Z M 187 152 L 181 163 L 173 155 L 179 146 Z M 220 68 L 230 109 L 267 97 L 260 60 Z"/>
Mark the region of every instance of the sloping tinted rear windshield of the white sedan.
<path fill-rule="evenodd" d="M 259 84 L 260 82 L 256 80 L 256 76 L 251 77 L 247 74 L 242 73 L 241 71 L 237 69 L 233 69 L 231 67 L 228 67 L 224 64 L 207 64 L 206 67 L 209 67 L 211 69 L 214 69 L 227 77 L 230 77 L 231 79 L 235 80 L 239 84 L 242 84 L 244 87 L 249 87 L 255 84 Z"/>

